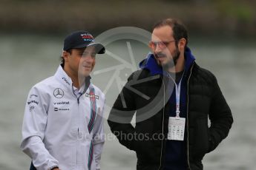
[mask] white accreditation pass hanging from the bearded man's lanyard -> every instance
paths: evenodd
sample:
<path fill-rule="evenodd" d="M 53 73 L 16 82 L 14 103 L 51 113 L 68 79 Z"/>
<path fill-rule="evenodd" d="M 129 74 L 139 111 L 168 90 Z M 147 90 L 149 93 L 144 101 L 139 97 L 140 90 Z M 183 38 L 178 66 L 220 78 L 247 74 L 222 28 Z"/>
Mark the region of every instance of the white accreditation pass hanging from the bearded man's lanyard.
<path fill-rule="evenodd" d="M 168 140 L 184 140 L 186 118 L 169 117 Z"/>

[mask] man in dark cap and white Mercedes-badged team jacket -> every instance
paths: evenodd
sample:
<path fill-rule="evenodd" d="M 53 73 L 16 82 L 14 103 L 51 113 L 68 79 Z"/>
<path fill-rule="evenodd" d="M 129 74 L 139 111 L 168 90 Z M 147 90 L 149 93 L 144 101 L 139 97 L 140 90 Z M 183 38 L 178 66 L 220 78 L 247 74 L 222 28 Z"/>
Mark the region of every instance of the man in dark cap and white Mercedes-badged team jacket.
<path fill-rule="evenodd" d="M 91 84 L 90 73 L 96 54 L 103 53 L 87 31 L 71 33 L 55 75 L 30 89 L 21 144 L 30 169 L 100 169 L 105 95 Z"/>

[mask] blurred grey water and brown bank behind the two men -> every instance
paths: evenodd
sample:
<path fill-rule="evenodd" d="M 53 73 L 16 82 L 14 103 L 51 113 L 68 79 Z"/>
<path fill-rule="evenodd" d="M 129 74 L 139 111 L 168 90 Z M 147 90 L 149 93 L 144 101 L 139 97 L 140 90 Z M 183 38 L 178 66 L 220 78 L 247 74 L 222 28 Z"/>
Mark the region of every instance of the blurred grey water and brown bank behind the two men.
<path fill-rule="evenodd" d="M 29 169 L 30 158 L 19 149 L 27 93 L 31 86 L 56 72 L 63 38 L 67 33 L 88 29 L 98 35 L 119 26 L 150 30 L 154 21 L 166 17 L 180 18 L 188 25 L 191 35 L 189 47 L 197 58 L 197 64 L 216 75 L 234 115 L 229 136 L 214 152 L 206 154 L 203 160 L 205 169 L 255 170 L 256 20 L 255 10 L 252 10 L 255 2 L 237 4 L 228 0 L 216 3 L 209 0 L 186 0 L 178 4 L 174 1 L 131 1 L 131 4 L 118 4 L 111 1 L 108 4 L 96 1 L 91 6 L 85 1 L 77 1 L 76 4 L 70 1 L 46 1 L 45 4 L 36 4 L 34 1 L 1 2 L 1 170 Z M 129 7 L 131 11 L 126 9 L 127 5 L 134 5 Z M 137 64 L 148 53 L 148 47 L 141 42 L 131 41 L 131 49 Z M 125 61 L 131 61 L 124 41 L 116 41 L 109 46 L 109 50 Z M 102 56 L 96 58 L 95 70 L 115 64 L 118 62 L 110 56 Z M 125 81 L 131 70 L 122 71 L 120 78 Z M 93 83 L 104 90 L 112 74 L 105 72 L 93 75 Z M 113 84 L 108 90 L 108 106 L 113 104 L 118 94 L 115 89 Z M 108 138 L 102 154 L 102 170 L 135 169 L 136 154 L 121 146 L 111 136 L 106 121 L 105 132 Z"/>

